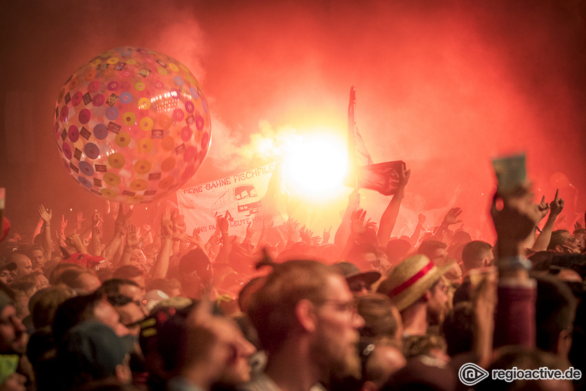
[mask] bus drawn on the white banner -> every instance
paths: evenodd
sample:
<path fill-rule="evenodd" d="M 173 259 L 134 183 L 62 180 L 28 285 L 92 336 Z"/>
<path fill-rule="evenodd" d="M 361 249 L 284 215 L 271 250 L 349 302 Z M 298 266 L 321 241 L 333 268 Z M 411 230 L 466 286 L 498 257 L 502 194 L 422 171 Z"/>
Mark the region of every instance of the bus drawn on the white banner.
<path fill-rule="evenodd" d="M 261 205 L 261 199 L 256 195 L 254 185 L 244 184 L 234 186 L 234 188 L 222 194 L 212 204 L 211 212 L 213 217 L 216 217 L 218 214 L 224 215 L 228 212 L 232 219 L 234 217 L 241 218 L 258 213 Z M 236 211 L 236 214 L 234 214 L 234 211 Z M 230 217 L 228 219 L 232 220 Z"/>

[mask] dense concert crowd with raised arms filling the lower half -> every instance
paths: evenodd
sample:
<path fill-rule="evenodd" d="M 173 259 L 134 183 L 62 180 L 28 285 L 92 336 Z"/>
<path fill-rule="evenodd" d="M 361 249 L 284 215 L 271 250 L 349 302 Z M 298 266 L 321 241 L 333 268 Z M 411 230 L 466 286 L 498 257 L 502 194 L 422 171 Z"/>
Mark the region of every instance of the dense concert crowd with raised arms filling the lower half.
<path fill-rule="evenodd" d="M 495 243 L 457 207 L 392 237 L 409 177 L 378 224 L 352 192 L 333 238 L 270 218 L 239 238 L 219 217 L 204 242 L 175 208 L 68 228 L 41 205 L 34 234 L 4 218 L 0 390 L 584 388 L 583 220 L 558 229 L 564 201 L 521 186 L 494 195 Z M 471 384 L 470 364 L 572 376 Z"/>

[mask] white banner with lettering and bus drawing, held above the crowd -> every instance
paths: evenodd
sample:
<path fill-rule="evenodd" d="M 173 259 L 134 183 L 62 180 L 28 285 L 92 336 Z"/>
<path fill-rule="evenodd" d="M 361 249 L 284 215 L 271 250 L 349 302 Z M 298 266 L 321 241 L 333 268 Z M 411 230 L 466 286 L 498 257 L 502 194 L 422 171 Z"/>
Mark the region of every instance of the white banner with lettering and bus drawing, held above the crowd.
<path fill-rule="evenodd" d="M 208 241 L 216 229 L 216 216 L 220 215 L 228 218 L 230 235 L 238 235 L 241 239 L 250 222 L 256 232 L 255 239 L 265 217 L 273 217 L 274 225 L 281 225 L 286 212 L 285 204 L 277 201 L 281 199 L 277 197 L 281 193 L 279 181 L 275 163 L 271 163 L 179 190 L 177 203 L 179 212 L 185 216 L 187 233 L 199 228 L 201 239 Z"/>

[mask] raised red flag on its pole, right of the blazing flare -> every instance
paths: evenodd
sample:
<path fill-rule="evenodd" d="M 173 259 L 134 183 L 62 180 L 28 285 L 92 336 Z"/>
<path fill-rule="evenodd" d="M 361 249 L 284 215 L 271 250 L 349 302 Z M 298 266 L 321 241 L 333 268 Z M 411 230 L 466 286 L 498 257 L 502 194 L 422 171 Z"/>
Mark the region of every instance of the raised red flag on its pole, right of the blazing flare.
<path fill-rule="evenodd" d="M 348 157 L 350 172 L 346 186 L 376 190 L 383 195 L 395 194 L 398 186 L 398 170 L 405 168 L 403 161 L 387 161 L 374 164 L 366 144 L 356 127 L 356 88 L 350 88 L 348 105 Z"/>

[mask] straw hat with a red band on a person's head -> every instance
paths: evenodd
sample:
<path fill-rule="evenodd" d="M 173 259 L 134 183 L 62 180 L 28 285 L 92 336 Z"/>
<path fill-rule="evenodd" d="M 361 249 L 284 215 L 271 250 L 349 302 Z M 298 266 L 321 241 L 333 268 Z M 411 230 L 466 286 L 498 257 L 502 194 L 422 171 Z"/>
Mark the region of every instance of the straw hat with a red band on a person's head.
<path fill-rule="evenodd" d="M 403 311 L 430 290 L 452 268 L 452 264 L 453 262 L 438 267 L 423 254 L 405 258 L 381 283 L 378 292 L 387 294 L 396 308 Z"/>

